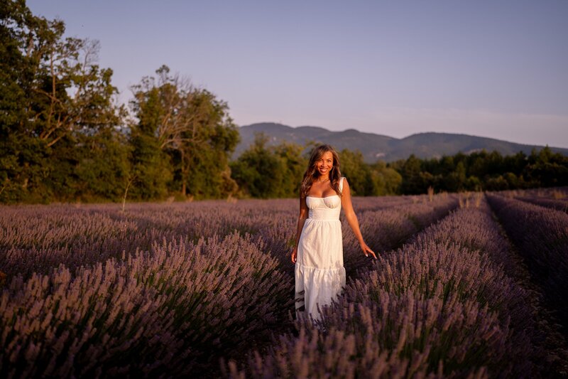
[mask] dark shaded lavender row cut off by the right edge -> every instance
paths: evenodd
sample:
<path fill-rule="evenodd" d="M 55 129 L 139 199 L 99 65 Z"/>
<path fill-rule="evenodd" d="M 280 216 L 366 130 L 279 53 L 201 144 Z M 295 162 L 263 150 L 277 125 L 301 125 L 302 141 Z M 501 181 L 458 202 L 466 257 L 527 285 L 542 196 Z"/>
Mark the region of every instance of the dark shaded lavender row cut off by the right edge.
<path fill-rule="evenodd" d="M 568 335 L 568 215 L 496 194 L 487 197 Z"/>

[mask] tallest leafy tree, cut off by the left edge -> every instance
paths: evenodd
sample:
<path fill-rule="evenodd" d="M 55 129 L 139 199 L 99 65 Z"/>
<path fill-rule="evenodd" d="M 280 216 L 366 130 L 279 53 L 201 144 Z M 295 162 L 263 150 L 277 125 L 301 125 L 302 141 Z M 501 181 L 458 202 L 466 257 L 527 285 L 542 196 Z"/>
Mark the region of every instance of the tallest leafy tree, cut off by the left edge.
<path fill-rule="evenodd" d="M 96 64 L 97 42 L 64 38 L 62 21 L 34 16 L 25 1 L 2 0 L 0 14 L 0 198 L 72 196 L 76 166 L 92 153 L 78 146 L 119 137 L 112 71 Z"/>

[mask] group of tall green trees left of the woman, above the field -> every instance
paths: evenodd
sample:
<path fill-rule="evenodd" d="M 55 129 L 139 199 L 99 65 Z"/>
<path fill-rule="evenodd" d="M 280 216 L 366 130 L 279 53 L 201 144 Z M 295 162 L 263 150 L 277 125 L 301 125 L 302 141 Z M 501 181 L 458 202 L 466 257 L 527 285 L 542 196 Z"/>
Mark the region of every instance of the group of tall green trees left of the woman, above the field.
<path fill-rule="evenodd" d="M 229 154 L 239 132 L 226 102 L 166 66 L 133 87 L 136 121 L 116 105 L 99 44 L 25 1 L 0 9 L 0 201 L 151 200 L 236 192 Z"/>

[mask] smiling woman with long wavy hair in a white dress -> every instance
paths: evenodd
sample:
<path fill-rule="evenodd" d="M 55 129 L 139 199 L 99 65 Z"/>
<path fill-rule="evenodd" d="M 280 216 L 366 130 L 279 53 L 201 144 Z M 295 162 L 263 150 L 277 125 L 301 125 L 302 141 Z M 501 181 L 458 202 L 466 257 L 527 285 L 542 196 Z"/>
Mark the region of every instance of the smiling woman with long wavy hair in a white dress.
<path fill-rule="evenodd" d="M 330 304 L 345 285 L 343 267 L 342 207 L 361 250 L 375 253 L 367 246 L 351 204 L 349 183 L 339 171 L 339 157 L 329 145 L 317 146 L 300 188 L 300 217 L 292 251 L 295 263 L 296 310 L 305 310 L 319 319 L 317 306 Z"/>

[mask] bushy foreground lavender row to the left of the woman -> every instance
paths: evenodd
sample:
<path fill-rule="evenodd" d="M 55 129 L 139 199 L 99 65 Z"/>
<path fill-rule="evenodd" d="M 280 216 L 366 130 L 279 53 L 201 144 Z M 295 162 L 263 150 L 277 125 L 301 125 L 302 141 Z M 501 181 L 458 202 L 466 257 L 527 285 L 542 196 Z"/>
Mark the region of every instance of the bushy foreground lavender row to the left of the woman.
<path fill-rule="evenodd" d="M 205 375 L 293 306 L 293 281 L 257 245 L 163 242 L 75 277 L 16 277 L 0 297 L 1 376 Z"/>

